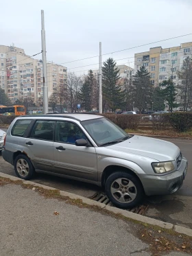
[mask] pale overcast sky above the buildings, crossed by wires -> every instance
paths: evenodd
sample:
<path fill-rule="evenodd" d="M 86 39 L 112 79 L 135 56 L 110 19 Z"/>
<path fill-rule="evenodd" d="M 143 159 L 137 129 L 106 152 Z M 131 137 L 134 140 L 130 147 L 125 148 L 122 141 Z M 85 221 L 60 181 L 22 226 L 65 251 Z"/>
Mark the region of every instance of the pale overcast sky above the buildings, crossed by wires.
<path fill-rule="evenodd" d="M 47 60 L 56 63 L 97 56 L 99 41 L 106 54 L 192 33 L 192 0 L 0 0 L 0 4 L 0 45 L 14 43 L 28 55 L 41 51 L 40 10 L 44 10 Z M 130 57 L 135 53 L 185 42 L 192 42 L 192 35 L 108 54 L 103 60 L 112 57 L 117 64 L 133 67 Z M 98 57 L 64 66 L 83 74 L 97 68 L 97 62 Z M 89 66 L 80 67 L 84 65 Z"/>

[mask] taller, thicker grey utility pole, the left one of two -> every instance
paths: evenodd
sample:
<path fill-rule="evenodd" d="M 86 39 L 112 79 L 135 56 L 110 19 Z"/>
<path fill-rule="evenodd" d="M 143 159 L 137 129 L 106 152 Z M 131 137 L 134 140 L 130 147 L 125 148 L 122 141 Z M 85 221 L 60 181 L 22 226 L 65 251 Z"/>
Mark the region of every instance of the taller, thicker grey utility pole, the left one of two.
<path fill-rule="evenodd" d="M 45 43 L 45 23 L 44 10 L 41 10 L 41 43 L 42 43 L 42 60 L 43 60 L 43 114 L 48 113 L 48 87 L 47 87 L 47 58 Z"/>

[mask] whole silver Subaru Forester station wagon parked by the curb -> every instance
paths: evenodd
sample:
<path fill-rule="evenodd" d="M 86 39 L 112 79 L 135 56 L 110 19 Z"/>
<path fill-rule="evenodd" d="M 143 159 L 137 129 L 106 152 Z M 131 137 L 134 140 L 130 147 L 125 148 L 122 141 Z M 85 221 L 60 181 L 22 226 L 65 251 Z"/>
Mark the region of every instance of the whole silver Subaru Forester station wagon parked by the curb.
<path fill-rule="evenodd" d="M 43 171 L 94 183 L 124 209 L 144 195 L 177 191 L 187 173 L 187 160 L 173 143 L 128 135 L 99 115 L 17 117 L 4 147 L 3 159 L 20 178 Z"/>

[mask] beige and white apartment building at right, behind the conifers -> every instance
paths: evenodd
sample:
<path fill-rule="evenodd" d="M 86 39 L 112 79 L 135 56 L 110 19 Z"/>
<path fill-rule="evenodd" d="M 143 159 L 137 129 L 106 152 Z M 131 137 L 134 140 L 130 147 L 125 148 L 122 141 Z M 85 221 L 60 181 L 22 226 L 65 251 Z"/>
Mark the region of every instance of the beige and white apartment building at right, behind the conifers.
<path fill-rule="evenodd" d="M 150 48 L 149 51 L 134 54 L 135 71 L 145 66 L 151 75 L 151 82 L 158 86 L 163 80 L 172 78 L 178 84 L 177 71 L 182 67 L 184 58 L 191 58 L 192 43 L 182 43 L 177 47 L 163 49 Z"/>

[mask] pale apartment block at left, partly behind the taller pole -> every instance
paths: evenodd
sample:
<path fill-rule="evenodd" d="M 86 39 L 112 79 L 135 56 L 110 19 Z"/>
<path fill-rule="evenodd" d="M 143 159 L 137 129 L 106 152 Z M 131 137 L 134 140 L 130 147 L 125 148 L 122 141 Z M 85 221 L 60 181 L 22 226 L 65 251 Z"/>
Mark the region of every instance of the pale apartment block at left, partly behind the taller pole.
<path fill-rule="evenodd" d="M 31 97 L 36 104 L 43 98 L 43 62 L 27 56 L 24 49 L 0 45 L 0 87 L 14 103 Z M 67 68 L 47 62 L 48 95 L 54 87 L 65 86 Z"/>

